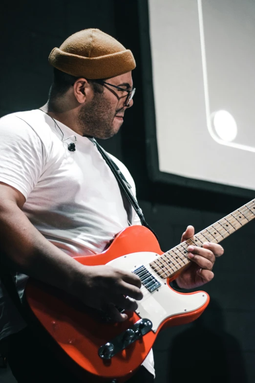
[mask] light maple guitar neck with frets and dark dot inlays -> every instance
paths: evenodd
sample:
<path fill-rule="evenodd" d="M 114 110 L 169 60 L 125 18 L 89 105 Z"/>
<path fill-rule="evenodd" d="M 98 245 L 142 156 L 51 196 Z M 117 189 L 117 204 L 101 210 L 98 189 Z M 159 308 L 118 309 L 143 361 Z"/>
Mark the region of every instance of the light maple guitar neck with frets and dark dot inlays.
<path fill-rule="evenodd" d="M 186 268 L 191 262 L 187 257 L 187 248 L 190 245 L 201 246 L 205 242 L 219 243 L 234 233 L 240 227 L 246 225 L 255 218 L 255 199 L 233 213 L 221 218 L 213 225 L 195 234 L 192 238 L 182 242 L 175 248 L 166 251 L 160 257 L 157 257 L 150 263 L 150 267 L 161 278 L 172 278 L 175 274 Z"/>

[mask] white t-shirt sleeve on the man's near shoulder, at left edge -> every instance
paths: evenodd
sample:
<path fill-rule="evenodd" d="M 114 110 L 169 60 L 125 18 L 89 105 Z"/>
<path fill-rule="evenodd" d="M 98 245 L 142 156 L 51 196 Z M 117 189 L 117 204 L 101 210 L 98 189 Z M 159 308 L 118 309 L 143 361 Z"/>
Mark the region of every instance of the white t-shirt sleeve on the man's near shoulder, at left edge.
<path fill-rule="evenodd" d="M 0 119 L 0 182 L 19 190 L 25 199 L 43 173 L 45 150 L 36 132 L 16 115 Z"/>

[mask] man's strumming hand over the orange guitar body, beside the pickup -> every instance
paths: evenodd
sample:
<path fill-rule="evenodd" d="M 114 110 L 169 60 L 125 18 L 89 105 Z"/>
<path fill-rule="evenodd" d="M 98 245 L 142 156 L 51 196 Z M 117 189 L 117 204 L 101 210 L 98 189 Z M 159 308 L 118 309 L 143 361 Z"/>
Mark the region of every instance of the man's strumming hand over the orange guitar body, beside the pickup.
<path fill-rule="evenodd" d="M 115 306 L 127 311 L 135 311 L 137 303 L 128 297 L 141 300 L 140 278 L 127 271 L 110 266 L 83 266 L 73 283 L 73 293 L 87 306 L 103 310 L 113 321 L 127 319 Z"/>

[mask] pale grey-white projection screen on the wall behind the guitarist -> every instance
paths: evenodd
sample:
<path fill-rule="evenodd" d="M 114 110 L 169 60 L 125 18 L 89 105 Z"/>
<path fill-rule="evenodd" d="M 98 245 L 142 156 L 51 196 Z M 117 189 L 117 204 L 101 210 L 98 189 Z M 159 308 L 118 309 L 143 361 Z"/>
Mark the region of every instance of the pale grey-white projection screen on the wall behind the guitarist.
<path fill-rule="evenodd" d="M 148 14 L 159 173 L 253 195 L 255 0 L 148 0 Z"/>

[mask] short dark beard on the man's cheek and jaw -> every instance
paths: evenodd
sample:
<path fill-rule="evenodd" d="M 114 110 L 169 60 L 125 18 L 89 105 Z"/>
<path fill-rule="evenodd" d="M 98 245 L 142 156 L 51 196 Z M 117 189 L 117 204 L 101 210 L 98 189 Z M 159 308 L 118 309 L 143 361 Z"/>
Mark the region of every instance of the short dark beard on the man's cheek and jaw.
<path fill-rule="evenodd" d="M 120 110 L 119 110 L 120 111 Z M 113 127 L 114 116 L 119 111 L 113 111 L 112 105 L 102 93 L 94 93 L 93 99 L 85 104 L 79 113 L 78 120 L 83 135 L 107 139 L 118 133 Z"/>

